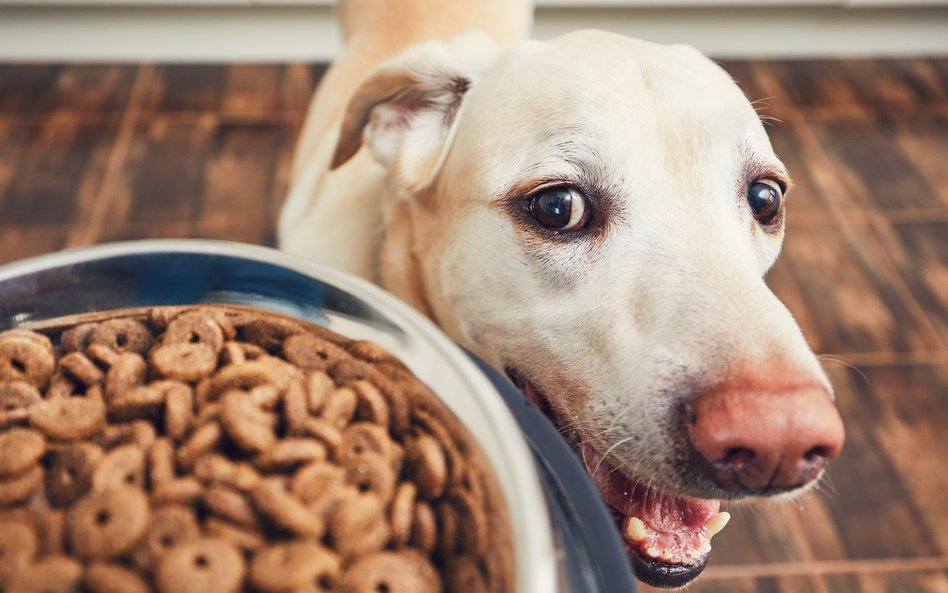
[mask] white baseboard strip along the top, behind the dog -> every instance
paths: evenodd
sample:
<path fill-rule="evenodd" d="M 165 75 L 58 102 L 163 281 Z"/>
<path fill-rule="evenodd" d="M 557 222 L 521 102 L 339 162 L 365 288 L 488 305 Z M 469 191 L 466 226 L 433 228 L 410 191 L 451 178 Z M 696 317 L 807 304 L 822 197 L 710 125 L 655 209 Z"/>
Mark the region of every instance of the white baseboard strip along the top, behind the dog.
<path fill-rule="evenodd" d="M 450 0 L 448 0 L 450 1 Z M 535 37 L 582 27 L 720 58 L 948 55 L 948 0 L 539 0 Z M 0 60 L 326 60 L 331 0 L 0 0 Z"/>

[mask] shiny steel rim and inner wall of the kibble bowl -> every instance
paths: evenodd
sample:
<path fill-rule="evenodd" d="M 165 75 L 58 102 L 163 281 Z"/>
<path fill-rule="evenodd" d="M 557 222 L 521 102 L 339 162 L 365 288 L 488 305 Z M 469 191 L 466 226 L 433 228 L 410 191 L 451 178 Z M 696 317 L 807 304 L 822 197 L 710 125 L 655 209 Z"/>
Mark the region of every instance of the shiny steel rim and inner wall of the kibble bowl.
<path fill-rule="evenodd" d="M 549 508 L 517 423 L 485 374 L 427 319 L 373 284 L 263 247 L 140 241 L 0 267 L 0 329 L 150 305 L 236 303 L 293 315 L 404 361 L 480 443 L 512 521 L 520 593 L 565 590 Z"/>

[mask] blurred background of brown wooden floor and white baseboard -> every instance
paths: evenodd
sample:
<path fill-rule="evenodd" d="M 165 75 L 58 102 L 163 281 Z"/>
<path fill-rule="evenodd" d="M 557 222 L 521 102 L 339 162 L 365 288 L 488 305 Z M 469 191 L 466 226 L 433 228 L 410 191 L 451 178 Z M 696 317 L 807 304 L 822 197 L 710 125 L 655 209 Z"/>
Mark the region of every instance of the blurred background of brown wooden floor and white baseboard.
<path fill-rule="evenodd" d="M 818 492 L 728 509 L 689 591 L 948 592 L 948 0 L 540 0 L 536 37 L 583 27 L 694 45 L 774 118 L 768 281 L 847 423 Z M 0 263 L 272 245 L 338 44 L 329 0 L 0 0 Z"/>

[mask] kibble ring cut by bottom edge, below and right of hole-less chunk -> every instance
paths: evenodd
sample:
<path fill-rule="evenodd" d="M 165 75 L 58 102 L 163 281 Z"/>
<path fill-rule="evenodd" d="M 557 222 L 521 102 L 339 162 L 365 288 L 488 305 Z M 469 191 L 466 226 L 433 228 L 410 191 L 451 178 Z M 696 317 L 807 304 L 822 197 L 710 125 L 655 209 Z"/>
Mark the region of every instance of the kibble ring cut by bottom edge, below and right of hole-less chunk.
<path fill-rule="evenodd" d="M 346 570 L 341 589 L 347 593 L 441 593 L 434 565 L 414 550 L 377 552 Z"/>

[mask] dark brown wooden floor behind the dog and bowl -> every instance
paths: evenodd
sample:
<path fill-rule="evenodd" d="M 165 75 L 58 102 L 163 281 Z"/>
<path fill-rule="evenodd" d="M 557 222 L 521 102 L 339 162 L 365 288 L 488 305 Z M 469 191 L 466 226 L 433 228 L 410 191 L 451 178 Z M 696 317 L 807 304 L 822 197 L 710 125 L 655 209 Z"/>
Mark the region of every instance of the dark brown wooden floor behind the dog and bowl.
<path fill-rule="evenodd" d="M 848 441 L 815 496 L 732 508 L 700 593 L 948 592 L 948 59 L 743 62 L 797 189 L 769 276 Z M 0 262 L 273 244 L 322 68 L 0 66 Z"/>

